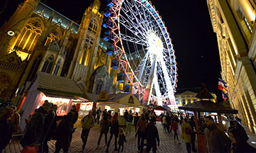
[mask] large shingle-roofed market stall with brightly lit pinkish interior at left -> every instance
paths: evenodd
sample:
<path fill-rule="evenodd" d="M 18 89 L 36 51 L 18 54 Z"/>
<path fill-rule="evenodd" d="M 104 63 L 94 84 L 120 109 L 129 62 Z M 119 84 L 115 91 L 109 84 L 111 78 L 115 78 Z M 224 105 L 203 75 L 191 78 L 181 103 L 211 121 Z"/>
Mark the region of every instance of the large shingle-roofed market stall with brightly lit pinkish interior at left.
<path fill-rule="evenodd" d="M 38 72 L 26 91 L 28 94 L 21 103 L 23 115 L 28 119 L 34 111 L 47 100 L 58 106 L 57 115 L 67 115 L 73 101 L 89 101 L 73 79 L 59 77 L 45 72 Z M 26 126 L 25 120 L 21 120 L 21 131 Z"/>

